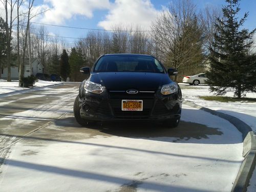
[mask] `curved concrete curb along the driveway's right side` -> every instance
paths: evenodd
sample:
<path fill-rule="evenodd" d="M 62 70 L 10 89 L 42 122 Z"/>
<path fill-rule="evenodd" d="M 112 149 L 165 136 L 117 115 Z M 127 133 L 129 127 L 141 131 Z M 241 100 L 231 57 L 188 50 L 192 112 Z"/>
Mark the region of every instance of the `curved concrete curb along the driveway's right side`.
<path fill-rule="evenodd" d="M 242 165 L 240 166 L 237 178 L 234 181 L 231 191 L 245 192 L 247 190 L 247 186 L 250 182 L 251 175 L 255 168 L 256 161 L 256 135 L 252 131 L 251 127 L 245 122 L 238 119 L 237 117 L 233 117 L 231 115 L 227 115 L 208 108 L 204 108 L 203 106 L 197 105 L 193 102 L 189 102 L 186 100 L 183 100 L 183 103 L 192 106 L 193 108 L 197 108 L 205 112 L 208 112 L 212 115 L 216 115 L 223 119 L 226 119 L 235 127 L 237 127 L 237 129 L 242 133 L 244 160 L 242 162 Z"/>

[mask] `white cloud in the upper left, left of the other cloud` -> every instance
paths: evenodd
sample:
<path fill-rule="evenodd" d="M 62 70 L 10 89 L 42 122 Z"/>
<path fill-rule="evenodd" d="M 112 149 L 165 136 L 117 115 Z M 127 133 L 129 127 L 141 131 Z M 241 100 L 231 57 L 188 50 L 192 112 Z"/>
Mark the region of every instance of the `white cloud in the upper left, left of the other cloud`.
<path fill-rule="evenodd" d="M 62 24 L 76 15 L 91 18 L 94 10 L 110 8 L 109 0 L 45 0 L 44 3 L 52 7 L 41 18 L 41 22 L 48 24 Z"/>

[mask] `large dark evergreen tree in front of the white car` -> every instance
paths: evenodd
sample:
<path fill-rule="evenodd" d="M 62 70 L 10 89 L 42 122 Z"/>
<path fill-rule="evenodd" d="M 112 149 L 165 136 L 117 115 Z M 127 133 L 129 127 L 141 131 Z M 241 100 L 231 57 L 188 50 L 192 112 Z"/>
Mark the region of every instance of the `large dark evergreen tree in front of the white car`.
<path fill-rule="evenodd" d="M 210 91 L 225 95 L 230 88 L 236 90 L 234 96 L 240 98 L 246 92 L 255 92 L 256 56 L 248 55 L 252 46 L 255 29 L 242 29 L 248 16 L 238 19 L 239 0 L 226 0 L 223 18 L 217 18 L 215 41 L 210 49 L 210 71 L 207 72 Z"/>

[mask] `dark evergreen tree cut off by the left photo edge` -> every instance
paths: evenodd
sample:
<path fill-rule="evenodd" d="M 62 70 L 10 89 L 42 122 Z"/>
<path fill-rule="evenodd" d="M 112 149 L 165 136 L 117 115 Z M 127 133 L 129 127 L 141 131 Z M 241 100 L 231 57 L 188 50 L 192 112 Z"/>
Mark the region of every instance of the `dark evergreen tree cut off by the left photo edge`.
<path fill-rule="evenodd" d="M 5 20 L 0 17 L 0 70 L 4 64 L 4 60 L 6 59 L 6 49 L 7 49 L 7 42 L 6 42 L 6 28 L 5 28 Z M 0 73 L 1 77 L 1 73 Z"/>

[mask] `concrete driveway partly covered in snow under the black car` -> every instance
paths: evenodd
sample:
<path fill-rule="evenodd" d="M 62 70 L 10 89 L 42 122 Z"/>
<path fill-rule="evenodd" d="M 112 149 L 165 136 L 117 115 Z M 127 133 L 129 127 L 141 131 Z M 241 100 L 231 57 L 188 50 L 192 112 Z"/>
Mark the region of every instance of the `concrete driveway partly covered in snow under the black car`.
<path fill-rule="evenodd" d="M 175 129 L 123 122 L 81 127 L 77 83 L 0 98 L 1 191 L 230 191 L 242 137 L 183 105 Z"/>

